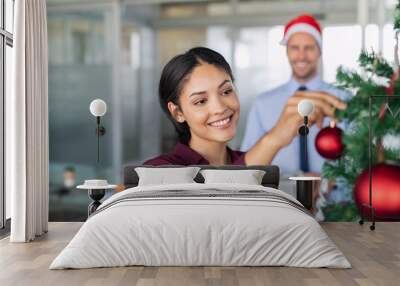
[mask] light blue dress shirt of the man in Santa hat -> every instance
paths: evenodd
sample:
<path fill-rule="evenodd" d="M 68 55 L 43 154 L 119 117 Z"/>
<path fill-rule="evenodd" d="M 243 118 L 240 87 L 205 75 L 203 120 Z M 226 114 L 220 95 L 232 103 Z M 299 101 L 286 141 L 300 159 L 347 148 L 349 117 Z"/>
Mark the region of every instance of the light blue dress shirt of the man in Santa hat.
<path fill-rule="evenodd" d="M 286 102 L 300 86 L 307 87 L 309 91 L 323 91 L 345 99 L 347 94 L 321 80 L 320 76 L 314 77 L 306 84 L 298 83 L 291 78 L 287 83 L 260 94 L 253 103 L 247 118 L 246 131 L 242 142 L 242 151 L 248 151 L 266 132 L 271 130 L 283 111 Z M 300 115 L 299 115 L 300 116 Z M 329 118 L 325 118 L 324 127 L 329 125 Z M 315 149 L 315 137 L 319 128 L 313 125 L 308 134 L 308 158 L 311 172 L 321 172 L 324 158 Z M 281 149 L 275 156 L 272 164 L 278 165 L 281 173 L 295 174 L 300 170 L 299 139 L 295 137 L 288 146 Z"/>

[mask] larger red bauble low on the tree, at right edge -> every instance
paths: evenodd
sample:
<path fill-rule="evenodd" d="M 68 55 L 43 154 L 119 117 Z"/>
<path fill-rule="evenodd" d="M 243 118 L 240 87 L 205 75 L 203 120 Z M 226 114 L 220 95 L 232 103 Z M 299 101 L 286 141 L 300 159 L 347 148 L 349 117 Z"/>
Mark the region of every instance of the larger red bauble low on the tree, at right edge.
<path fill-rule="evenodd" d="M 372 206 L 377 217 L 400 219 L 400 166 L 376 164 L 372 167 Z M 362 204 L 369 205 L 368 169 L 357 177 L 354 200 L 361 211 Z M 365 215 L 370 215 L 364 208 Z"/>

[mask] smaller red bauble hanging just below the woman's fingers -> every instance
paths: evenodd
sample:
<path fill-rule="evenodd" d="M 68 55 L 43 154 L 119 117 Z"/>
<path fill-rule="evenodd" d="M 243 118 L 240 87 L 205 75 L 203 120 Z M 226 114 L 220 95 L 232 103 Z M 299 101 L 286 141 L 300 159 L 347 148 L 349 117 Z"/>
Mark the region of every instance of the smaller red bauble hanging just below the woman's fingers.
<path fill-rule="evenodd" d="M 342 133 L 342 129 L 336 126 L 321 129 L 315 138 L 315 148 L 318 153 L 326 159 L 339 158 L 344 149 Z"/>

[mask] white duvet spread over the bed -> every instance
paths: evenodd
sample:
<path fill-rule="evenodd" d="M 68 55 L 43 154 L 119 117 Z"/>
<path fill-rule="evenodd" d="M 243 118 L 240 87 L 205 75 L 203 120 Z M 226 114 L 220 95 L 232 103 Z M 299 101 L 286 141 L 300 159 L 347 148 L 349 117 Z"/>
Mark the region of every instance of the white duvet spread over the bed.
<path fill-rule="evenodd" d="M 189 195 L 130 198 L 174 190 Z M 242 195 L 190 196 L 190 192 L 216 191 Z M 252 197 L 251 191 L 265 192 L 268 198 Z M 106 200 L 50 269 L 127 265 L 350 268 L 321 226 L 299 205 L 282 191 L 254 185 L 131 188 Z"/>

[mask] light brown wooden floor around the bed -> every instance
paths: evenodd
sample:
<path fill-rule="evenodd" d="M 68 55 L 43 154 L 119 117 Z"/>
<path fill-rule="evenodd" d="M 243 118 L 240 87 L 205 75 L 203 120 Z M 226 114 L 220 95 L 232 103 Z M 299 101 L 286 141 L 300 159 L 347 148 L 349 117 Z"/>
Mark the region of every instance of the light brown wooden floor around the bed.
<path fill-rule="evenodd" d="M 0 240 L 0 285 L 400 285 L 400 223 L 322 224 L 353 268 L 120 267 L 48 270 L 81 223 L 50 223 L 32 243 Z"/>

